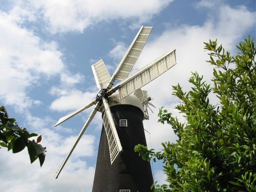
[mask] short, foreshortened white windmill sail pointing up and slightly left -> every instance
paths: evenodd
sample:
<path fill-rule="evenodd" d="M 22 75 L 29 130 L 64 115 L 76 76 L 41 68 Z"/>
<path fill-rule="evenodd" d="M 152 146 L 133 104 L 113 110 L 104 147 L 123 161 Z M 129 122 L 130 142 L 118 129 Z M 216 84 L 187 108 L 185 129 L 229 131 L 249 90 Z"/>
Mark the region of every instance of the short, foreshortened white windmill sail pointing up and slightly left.
<path fill-rule="evenodd" d="M 92 70 L 97 87 L 99 89 L 102 89 L 110 82 L 111 76 L 108 70 L 106 69 L 106 66 L 102 59 L 100 59 L 98 62 L 92 65 Z"/>

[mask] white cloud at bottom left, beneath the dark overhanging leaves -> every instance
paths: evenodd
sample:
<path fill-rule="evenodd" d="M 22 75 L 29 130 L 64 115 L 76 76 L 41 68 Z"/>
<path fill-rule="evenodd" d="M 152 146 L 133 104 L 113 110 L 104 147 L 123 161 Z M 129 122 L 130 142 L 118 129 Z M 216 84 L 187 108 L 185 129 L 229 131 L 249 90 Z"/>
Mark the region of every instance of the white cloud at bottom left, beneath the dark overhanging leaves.
<path fill-rule="evenodd" d="M 51 149 L 54 146 L 47 145 L 47 147 Z M 8 189 L 12 192 L 20 190 L 41 192 L 91 191 L 95 167 L 89 166 L 86 161 L 71 158 L 62 169 L 59 178 L 54 179 L 55 172 L 62 161 L 62 156 L 48 150 L 46 161 L 40 168 L 38 160 L 30 164 L 26 149 L 18 154 L 7 152 L 5 148 L 1 149 L 0 162 L 5 165 L 1 169 L 1 175 L 5 176 L 2 177 L 1 189 Z M 83 178 L 82 182 L 81 178 Z"/>

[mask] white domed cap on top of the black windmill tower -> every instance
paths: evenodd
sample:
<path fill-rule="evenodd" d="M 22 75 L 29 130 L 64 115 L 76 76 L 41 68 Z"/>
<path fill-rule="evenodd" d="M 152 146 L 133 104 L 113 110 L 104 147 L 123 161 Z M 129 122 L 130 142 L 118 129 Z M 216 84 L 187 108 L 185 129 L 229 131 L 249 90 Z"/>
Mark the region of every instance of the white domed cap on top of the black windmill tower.
<path fill-rule="evenodd" d="M 129 105 L 133 105 L 133 106 L 137 106 L 137 108 L 139 108 L 142 113 L 144 113 L 144 108 L 143 105 L 141 103 L 141 100 L 135 96 L 134 94 L 128 95 L 126 97 L 124 97 L 123 99 L 119 99 L 119 94 L 118 93 L 114 93 L 109 97 L 109 105 L 110 106 L 114 106 L 114 105 L 119 105 L 119 104 L 129 104 Z M 105 109 L 102 109 L 102 112 Z"/>

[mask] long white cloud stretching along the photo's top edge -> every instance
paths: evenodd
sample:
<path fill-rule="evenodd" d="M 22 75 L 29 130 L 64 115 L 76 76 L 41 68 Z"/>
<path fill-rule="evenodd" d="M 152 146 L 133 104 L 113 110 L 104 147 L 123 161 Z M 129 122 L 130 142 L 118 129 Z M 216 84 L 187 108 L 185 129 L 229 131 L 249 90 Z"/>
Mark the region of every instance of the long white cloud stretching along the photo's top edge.
<path fill-rule="evenodd" d="M 69 31 L 83 32 L 89 26 L 99 22 L 117 19 L 132 19 L 133 28 L 142 23 L 149 22 L 173 0 L 152 1 L 23 1 L 16 3 L 11 12 L 17 22 L 24 22 L 27 18 L 30 22 L 36 19 L 45 22 L 51 33 Z"/>

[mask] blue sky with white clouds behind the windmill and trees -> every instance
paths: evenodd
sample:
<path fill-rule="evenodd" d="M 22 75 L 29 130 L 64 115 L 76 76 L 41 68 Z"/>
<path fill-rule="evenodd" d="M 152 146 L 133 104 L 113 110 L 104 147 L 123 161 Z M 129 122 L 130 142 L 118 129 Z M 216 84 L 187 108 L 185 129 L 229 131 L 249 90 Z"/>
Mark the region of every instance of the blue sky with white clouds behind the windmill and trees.
<path fill-rule="evenodd" d="M 42 167 L 27 150 L 0 149 L 0 191 L 91 191 L 101 114 L 84 133 L 58 179 L 54 175 L 92 108 L 54 127 L 57 120 L 91 102 L 98 90 L 91 65 L 103 59 L 113 74 L 140 27 L 153 26 L 132 72 L 176 49 L 177 65 L 143 87 L 156 106 L 144 121 L 149 148 L 176 141 L 172 128 L 157 122 L 162 106 L 182 120 L 172 86 L 185 91 L 191 72 L 211 82 L 212 67 L 203 42 L 218 39 L 236 54 L 236 45 L 255 37 L 254 0 L 0 0 L 0 104 L 20 126 L 42 135 L 47 147 Z M 216 101 L 212 97 L 212 102 Z M 149 133 L 150 134 L 149 134 Z M 164 183 L 161 162 L 154 180 Z"/>

